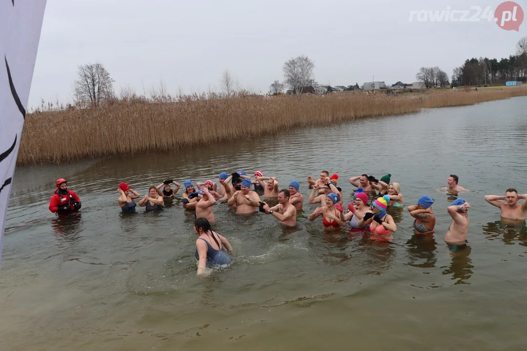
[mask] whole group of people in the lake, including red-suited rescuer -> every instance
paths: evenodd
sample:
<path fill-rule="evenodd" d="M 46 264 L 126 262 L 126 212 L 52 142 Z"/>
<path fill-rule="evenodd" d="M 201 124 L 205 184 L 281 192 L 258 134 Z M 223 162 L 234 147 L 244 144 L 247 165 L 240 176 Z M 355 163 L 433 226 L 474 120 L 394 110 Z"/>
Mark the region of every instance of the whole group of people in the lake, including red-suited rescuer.
<path fill-rule="evenodd" d="M 311 193 L 308 197 L 309 204 L 320 204 L 308 220 L 313 221 L 322 217 L 322 223 L 327 230 L 339 230 L 347 225 L 354 232 L 365 232 L 370 239 L 377 242 L 393 241 L 393 233 L 397 225 L 391 215 L 387 214 L 388 207 L 404 207 L 405 202 L 401 193 L 399 183 L 391 182 L 391 174 L 380 179 L 372 175 L 363 174 L 349 178 L 349 183 L 357 187 L 353 194 L 353 202 L 347 204 L 347 212 L 344 211 L 342 189 L 337 186 L 338 175 L 329 176 L 329 172 L 320 172 L 319 178 L 307 178 L 307 184 Z M 460 192 L 468 192 L 458 185 L 459 178 L 450 175 L 447 186 L 437 190 L 446 190 L 447 193 L 457 195 Z M 174 188 L 172 188 L 172 185 Z M 50 210 L 59 216 L 67 216 L 77 212 L 81 208 L 81 200 L 72 191 L 67 189 L 67 182 L 61 178 L 56 181 L 57 189 L 50 200 Z M 295 227 L 297 211 L 304 206 L 304 196 L 299 192 L 300 183 L 292 180 L 287 189 L 281 189 L 276 177 L 264 177 L 261 171 L 257 171 L 254 177 L 248 176 L 246 172 L 239 171 L 232 174 L 222 172 L 219 175 L 219 188 L 216 182 L 207 180 L 204 183 L 196 183 L 191 180 L 183 183 L 182 194 L 183 208 L 194 210 L 196 221 L 194 232 L 198 235 L 196 240 L 196 258 L 198 259 L 198 275 L 202 275 L 203 269 L 209 265 L 225 265 L 231 261 L 232 247 L 228 240 L 211 229 L 216 218 L 212 207 L 220 200 L 227 206 L 235 207 L 237 214 L 252 214 L 258 210 L 262 213 L 272 215 L 287 227 Z M 148 195 L 144 195 L 139 206 L 145 207 L 147 211 L 162 209 L 165 202 L 171 201 L 178 193 L 181 185 L 173 179 L 164 180 L 158 186 L 150 186 Z M 251 190 L 251 187 L 253 190 Z M 120 194 L 118 204 L 124 213 L 135 212 L 135 199 L 141 195 L 131 189 L 128 184 L 120 183 L 118 187 Z M 377 194 L 378 192 L 378 194 Z M 260 199 L 275 199 L 278 204 L 269 206 L 266 201 Z M 369 203 L 370 196 L 376 198 Z M 519 203 L 519 199 L 524 199 Z M 485 200 L 493 206 L 499 207 L 502 218 L 511 220 L 525 220 L 527 214 L 527 194 L 519 195 L 513 189 L 507 189 L 505 196 L 486 195 Z M 417 235 L 432 235 L 435 233 L 434 211 L 432 205 L 434 199 L 428 195 L 422 195 L 416 204 L 407 206 L 409 214 L 415 218 L 413 223 L 414 233 Z M 447 213 L 452 217 L 452 223 L 445 235 L 445 243 L 452 252 L 462 250 L 466 247 L 466 237 L 469 229 L 469 217 L 467 212 L 470 204 L 463 198 L 456 198 Z"/>

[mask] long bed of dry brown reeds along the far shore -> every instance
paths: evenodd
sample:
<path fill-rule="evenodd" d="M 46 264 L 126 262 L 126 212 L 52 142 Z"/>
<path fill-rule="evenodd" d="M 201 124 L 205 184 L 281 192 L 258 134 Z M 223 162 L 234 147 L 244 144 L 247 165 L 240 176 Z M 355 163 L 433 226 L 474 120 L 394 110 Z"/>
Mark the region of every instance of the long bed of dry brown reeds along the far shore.
<path fill-rule="evenodd" d="M 245 96 L 151 103 L 118 101 L 99 108 L 28 114 L 17 163 L 165 152 L 290 128 L 415 113 L 527 95 L 527 87 L 438 90 L 399 96 L 346 92 L 327 96 Z"/>

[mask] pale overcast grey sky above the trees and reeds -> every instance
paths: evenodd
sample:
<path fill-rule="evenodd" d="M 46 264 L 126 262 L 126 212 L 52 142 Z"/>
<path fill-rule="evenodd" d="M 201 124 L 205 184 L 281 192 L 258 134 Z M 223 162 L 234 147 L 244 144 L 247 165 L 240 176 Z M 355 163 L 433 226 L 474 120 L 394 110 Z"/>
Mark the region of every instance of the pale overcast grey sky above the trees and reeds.
<path fill-rule="evenodd" d="M 411 11 L 471 11 L 502 1 L 465 0 L 47 0 L 28 106 L 73 101 L 77 67 L 99 62 L 121 87 L 148 95 L 160 82 L 171 94 L 221 90 L 228 70 L 265 94 L 293 57 L 314 62 L 319 84 L 415 82 L 422 66 L 448 76 L 465 59 L 515 53 L 527 35 L 494 22 L 418 21 Z M 527 12 L 527 0 L 516 0 Z M 474 16 L 474 18 L 480 18 Z M 423 17 L 421 17 L 423 19 Z"/>

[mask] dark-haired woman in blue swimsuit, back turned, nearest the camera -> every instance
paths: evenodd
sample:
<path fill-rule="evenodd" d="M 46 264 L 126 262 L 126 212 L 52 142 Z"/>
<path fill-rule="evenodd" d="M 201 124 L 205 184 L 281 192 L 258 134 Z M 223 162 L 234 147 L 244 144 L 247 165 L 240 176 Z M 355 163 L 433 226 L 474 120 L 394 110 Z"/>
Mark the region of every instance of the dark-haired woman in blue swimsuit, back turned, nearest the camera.
<path fill-rule="evenodd" d="M 195 256 L 198 259 L 199 276 L 206 276 L 203 270 L 207 266 L 223 266 L 232 262 L 232 246 L 226 238 L 211 230 L 206 218 L 194 220 L 194 233 L 198 235 Z"/>

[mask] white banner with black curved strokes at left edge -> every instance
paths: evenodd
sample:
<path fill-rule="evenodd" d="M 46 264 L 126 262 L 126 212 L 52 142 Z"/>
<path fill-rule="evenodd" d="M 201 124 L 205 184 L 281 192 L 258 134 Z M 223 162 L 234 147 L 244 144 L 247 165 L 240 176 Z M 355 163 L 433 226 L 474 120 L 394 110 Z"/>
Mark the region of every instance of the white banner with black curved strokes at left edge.
<path fill-rule="evenodd" d="M 46 0 L 0 0 L 0 263 Z"/>

